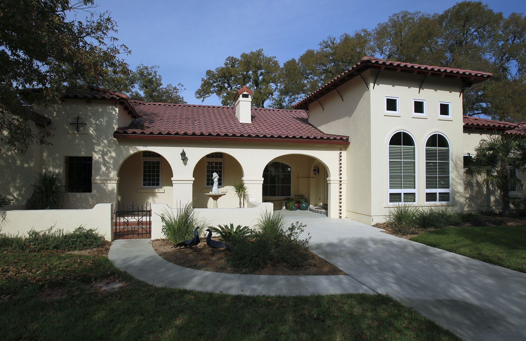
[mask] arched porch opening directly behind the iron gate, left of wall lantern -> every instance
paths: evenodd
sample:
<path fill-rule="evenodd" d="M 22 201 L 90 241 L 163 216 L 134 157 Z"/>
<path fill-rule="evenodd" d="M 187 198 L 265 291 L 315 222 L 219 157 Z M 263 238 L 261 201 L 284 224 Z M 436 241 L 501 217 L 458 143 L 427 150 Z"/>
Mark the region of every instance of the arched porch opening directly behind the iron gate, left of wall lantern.
<path fill-rule="evenodd" d="M 118 203 L 140 207 L 145 204 L 172 206 L 174 195 L 171 178 L 174 176 L 168 161 L 152 151 L 128 156 L 119 167 Z"/>

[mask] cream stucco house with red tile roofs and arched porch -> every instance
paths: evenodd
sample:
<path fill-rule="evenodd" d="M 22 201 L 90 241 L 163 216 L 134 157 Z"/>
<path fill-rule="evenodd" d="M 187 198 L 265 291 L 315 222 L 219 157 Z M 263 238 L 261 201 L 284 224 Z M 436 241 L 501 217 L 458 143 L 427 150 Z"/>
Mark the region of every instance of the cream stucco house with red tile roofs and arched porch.
<path fill-rule="evenodd" d="M 291 110 L 251 107 L 246 86 L 235 106 L 68 92 L 60 105 L 34 108 L 36 130 L 55 128 L 53 145 L 23 157 L 5 149 L 0 193 L 22 199 L 31 172 L 59 171 L 66 209 L 194 200 L 211 212 L 216 172 L 226 193 L 219 209 L 239 206 L 232 186 L 243 180 L 254 203 L 280 209 L 301 193 L 329 218 L 366 224 L 402 202 L 461 212 L 476 207 L 467 205 L 463 155 L 481 138 L 478 127 L 466 133 L 462 92 L 491 76 L 364 57 Z"/>

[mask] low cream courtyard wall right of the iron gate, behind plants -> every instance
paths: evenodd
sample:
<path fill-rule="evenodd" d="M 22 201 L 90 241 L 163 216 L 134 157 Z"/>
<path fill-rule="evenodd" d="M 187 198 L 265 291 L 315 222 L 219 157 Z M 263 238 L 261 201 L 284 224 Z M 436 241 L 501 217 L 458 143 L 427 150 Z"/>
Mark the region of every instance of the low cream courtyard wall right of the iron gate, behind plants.
<path fill-rule="evenodd" d="M 174 210 L 176 208 L 166 204 L 151 204 L 151 239 L 164 238 L 161 232 L 163 222 L 160 215 Z M 207 226 L 230 225 L 230 223 L 234 226 L 254 226 L 262 214 L 272 213 L 273 210 L 274 204 L 257 203 L 254 198 L 249 198 L 248 207 L 245 208 L 195 208 L 199 218 L 206 220 Z"/>

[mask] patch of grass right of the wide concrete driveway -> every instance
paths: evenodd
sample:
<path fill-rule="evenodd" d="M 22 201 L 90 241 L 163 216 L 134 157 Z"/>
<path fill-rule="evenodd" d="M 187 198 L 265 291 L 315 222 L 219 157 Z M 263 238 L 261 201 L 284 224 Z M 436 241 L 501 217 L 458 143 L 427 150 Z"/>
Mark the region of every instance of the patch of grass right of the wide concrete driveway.
<path fill-rule="evenodd" d="M 526 273 L 526 225 L 442 228 L 410 240 Z"/>

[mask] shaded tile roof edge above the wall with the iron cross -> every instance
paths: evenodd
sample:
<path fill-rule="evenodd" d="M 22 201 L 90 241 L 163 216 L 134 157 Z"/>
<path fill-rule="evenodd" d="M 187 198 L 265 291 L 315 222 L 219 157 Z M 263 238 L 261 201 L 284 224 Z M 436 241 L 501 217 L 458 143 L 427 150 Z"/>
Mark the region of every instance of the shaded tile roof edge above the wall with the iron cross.
<path fill-rule="evenodd" d="M 24 89 L 22 91 L 23 93 L 27 94 L 37 94 L 42 92 L 42 88 L 34 88 L 34 89 Z M 126 94 L 112 91 L 109 89 L 101 88 L 98 86 L 88 85 L 86 88 L 79 88 L 79 89 L 68 89 L 66 88 L 66 91 L 64 92 L 64 95 L 62 98 L 70 98 L 70 99 L 103 99 L 103 100 L 109 100 L 114 101 L 114 103 L 118 103 L 120 105 L 124 106 L 124 109 L 128 112 L 128 114 L 131 115 L 133 118 L 138 118 L 139 114 L 135 112 L 135 109 L 131 107 L 128 103 L 129 97 Z"/>

